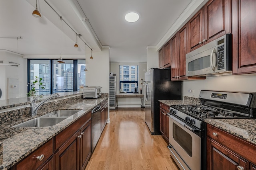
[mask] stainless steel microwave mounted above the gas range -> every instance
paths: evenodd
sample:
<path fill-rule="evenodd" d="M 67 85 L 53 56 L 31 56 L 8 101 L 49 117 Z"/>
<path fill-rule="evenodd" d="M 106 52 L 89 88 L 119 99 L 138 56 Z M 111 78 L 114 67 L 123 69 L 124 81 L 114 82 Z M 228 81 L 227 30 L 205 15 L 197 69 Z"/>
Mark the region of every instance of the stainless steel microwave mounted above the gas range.
<path fill-rule="evenodd" d="M 186 54 L 186 76 L 231 73 L 231 34 Z"/>

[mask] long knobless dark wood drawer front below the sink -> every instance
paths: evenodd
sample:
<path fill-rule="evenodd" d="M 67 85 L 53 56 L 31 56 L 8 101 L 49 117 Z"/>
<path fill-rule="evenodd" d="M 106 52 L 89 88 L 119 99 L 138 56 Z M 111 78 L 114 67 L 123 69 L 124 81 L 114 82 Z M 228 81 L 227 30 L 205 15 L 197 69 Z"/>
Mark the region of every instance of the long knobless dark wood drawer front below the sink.
<path fill-rule="evenodd" d="M 69 127 L 61 131 L 58 135 L 56 135 L 55 143 L 54 143 L 54 151 L 57 150 L 61 145 L 63 145 L 68 139 L 76 133 L 78 129 L 80 129 L 86 122 L 88 122 L 92 118 L 92 113 L 88 112 L 83 115 L 80 119 L 72 123 Z"/>

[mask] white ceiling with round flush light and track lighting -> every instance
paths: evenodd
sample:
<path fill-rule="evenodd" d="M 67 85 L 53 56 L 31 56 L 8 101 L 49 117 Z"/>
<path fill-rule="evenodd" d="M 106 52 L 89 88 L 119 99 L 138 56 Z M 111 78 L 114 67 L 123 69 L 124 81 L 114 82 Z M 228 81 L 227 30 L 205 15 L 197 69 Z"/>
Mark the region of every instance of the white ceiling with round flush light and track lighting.
<path fill-rule="evenodd" d="M 199 0 L 46 1 L 76 33 L 82 34 L 81 38 L 94 52 L 100 51 L 102 46 L 109 46 L 110 62 L 146 63 L 146 47 L 159 46 L 165 41 L 163 37 L 179 16 L 192 2 Z M 76 35 L 64 21 L 60 45 L 60 17 L 45 0 L 38 0 L 41 19 L 32 16 L 35 6 L 36 0 L 1 0 L 0 37 L 22 36 L 23 39 L 18 41 L 18 53 L 24 56 L 58 58 L 60 51 L 64 58 L 84 56 L 84 42 L 79 39 L 80 48 L 74 48 Z M 134 23 L 125 21 L 128 12 L 137 12 L 140 19 Z M 17 39 L 0 39 L 0 49 L 17 52 Z M 88 47 L 86 50 L 90 53 Z"/>

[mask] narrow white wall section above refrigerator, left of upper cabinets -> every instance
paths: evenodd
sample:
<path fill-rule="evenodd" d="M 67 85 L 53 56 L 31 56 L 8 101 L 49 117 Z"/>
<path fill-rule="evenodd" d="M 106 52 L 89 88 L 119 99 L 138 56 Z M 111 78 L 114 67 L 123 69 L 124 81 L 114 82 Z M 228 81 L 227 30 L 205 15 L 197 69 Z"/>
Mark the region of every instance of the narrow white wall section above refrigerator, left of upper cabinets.
<path fill-rule="evenodd" d="M 158 68 L 158 51 L 156 47 L 147 47 L 147 70 L 150 68 Z"/>

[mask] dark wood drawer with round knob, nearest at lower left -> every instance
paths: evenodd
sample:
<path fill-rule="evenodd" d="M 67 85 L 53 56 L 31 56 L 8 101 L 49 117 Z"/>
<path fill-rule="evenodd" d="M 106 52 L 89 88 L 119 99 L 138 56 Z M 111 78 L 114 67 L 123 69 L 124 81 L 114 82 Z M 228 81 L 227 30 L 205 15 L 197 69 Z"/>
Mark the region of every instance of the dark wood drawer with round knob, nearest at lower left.
<path fill-rule="evenodd" d="M 50 156 L 53 154 L 53 139 L 36 149 L 29 156 L 24 158 L 17 164 L 16 170 L 35 170 L 41 166 Z M 42 160 L 38 160 L 36 157 L 44 155 Z"/>

